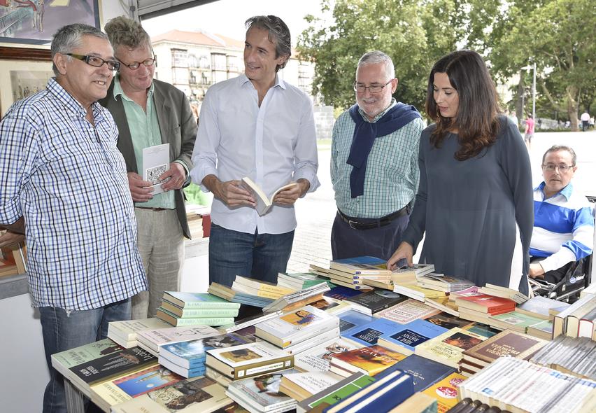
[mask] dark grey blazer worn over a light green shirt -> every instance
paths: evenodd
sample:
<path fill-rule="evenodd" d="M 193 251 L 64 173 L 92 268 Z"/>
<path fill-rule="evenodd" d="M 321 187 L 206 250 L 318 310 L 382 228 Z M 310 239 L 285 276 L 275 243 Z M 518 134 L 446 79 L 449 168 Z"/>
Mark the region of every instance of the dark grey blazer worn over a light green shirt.
<path fill-rule="evenodd" d="M 155 92 L 153 102 L 159 122 L 159 132 L 162 134 L 162 144 L 170 144 L 170 162 L 182 160 L 192 169 L 192 149 L 194 139 L 197 138 L 197 122 L 192 116 L 190 104 L 184 92 L 178 90 L 169 83 L 160 80 L 153 80 Z M 139 173 L 136 169 L 134 158 L 134 147 L 126 119 L 124 105 L 120 96 L 114 98 L 114 82 L 108 89 L 108 94 L 99 101 L 112 114 L 118 126 L 118 149 L 126 161 L 127 172 Z M 187 180 L 187 182 L 190 182 Z M 174 194 L 176 202 L 176 213 L 180 221 L 184 236 L 190 239 L 190 230 L 186 221 L 185 195 L 182 189 L 176 190 Z"/>

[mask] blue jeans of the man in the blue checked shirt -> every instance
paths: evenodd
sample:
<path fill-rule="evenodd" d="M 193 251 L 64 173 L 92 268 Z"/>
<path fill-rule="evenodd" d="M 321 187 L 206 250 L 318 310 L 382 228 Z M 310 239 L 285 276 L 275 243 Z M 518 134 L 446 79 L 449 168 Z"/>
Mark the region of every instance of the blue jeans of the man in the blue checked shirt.
<path fill-rule="evenodd" d="M 39 309 L 45 360 L 50 368 L 50 382 L 43 393 L 43 413 L 66 413 L 64 377 L 52 367 L 52 354 L 106 338 L 108 322 L 129 320 L 130 308 L 127 299 L 92 310 Z"/>

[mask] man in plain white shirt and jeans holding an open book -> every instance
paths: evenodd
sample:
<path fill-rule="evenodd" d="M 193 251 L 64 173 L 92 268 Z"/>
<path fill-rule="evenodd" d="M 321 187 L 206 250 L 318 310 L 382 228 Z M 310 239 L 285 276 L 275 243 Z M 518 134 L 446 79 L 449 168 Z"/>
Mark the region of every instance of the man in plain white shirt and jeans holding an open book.
<path fill-rule="evenodd" d="M 290 59 L 290 31 L 278 17 L 246 21 L 245 73 L 213 85 L 201 106 L 190 172 L 214 195 L 209 281 L 231 286 L 236 275 L 275 282 L 292 251 L 294 203 L 318 188 L 311 100 L 277 76 Z M 290 181 L 264 216 L 241 185 L 248 176 L 264 193 Z"/>

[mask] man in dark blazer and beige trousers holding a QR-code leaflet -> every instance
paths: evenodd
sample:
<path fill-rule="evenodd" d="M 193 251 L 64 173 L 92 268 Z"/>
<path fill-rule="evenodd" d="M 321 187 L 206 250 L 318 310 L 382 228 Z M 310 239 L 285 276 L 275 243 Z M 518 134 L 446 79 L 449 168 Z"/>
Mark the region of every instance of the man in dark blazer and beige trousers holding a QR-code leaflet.
<path fill-rule="evenodd" d="M 99 103 L 112 113 L 126 160 L 130 194 L 139 227 L 137 244 L 147 272 L 149 291 L 133 297 L 132 318 L 155 316 L 164 291 L 178 291 L 184 262 L 184 237 L 190 238 L 183 186 L 192 168 L 190 155 L 197 123 L 185 94 L 153 79 L 155 56 L 147 32 L 125 17 L 105 27 L 120 70 Z M 163 193 L 152 195 L 143 181 L 143 149 L 170 145 L 169 166 L 159 180 Z"/>

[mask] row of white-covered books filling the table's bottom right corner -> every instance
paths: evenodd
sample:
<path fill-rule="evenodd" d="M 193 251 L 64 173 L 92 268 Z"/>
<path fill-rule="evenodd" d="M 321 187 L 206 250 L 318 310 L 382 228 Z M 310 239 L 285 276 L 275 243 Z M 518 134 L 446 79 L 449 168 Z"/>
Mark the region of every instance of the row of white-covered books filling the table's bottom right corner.
<path fill-rule="evenodd" d="M 460 400 L 480 400 L 512 412 L 588 413 L 596 411 L 595 387 L 596 381 L 500 357 L 460 384 L 457 392 Z"/>

